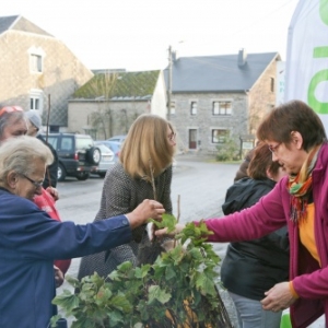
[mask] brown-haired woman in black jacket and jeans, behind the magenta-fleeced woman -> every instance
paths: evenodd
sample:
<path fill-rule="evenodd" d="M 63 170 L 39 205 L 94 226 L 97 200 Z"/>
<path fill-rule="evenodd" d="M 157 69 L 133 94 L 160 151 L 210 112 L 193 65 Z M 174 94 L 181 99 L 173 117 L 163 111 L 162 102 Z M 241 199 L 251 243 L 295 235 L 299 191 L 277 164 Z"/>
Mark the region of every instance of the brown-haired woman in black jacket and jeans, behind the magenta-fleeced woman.
<path fill-rule="evenodd" d="M 250 208 L 286 175 L 265 142 L 253 151 L 244 177 L 227 189 L 222 206 L 225 215 Z M 236 274 L 238 272 L 238 274 Z M 265 311 L 260 300 L 276 283 L 289 278 L 286 226 L 261 238 L 231 243 L 221 266 L 221 280 L 237 312 L 241 328 L 279 328 L 281 311 Z"/>

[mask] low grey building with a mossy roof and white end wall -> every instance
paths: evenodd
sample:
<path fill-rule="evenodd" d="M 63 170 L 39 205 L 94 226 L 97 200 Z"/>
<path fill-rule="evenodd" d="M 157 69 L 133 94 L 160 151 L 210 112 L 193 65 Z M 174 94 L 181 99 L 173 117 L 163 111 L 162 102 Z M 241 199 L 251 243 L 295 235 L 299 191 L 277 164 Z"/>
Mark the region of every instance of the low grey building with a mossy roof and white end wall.
<path fill-rule="evenodd" d="M 68 128 L 94 139 L 126 134 L 143 113 L 166 117 L 163 72 L 99 71 L 69 101 Z"/>

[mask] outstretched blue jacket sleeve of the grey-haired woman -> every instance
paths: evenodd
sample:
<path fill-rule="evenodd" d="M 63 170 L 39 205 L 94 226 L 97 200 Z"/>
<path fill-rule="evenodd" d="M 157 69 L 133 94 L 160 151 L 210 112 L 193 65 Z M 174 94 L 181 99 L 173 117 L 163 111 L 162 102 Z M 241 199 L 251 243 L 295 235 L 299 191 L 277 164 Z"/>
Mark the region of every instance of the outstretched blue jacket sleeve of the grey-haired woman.
<path fill-rule="evenodd" d="M 65 259 L 98 253 L 130 242 L 125 215 L 85 225 L 58 222 L 32 201 L 0 197 L 0 249 L 36 259 Z"/>

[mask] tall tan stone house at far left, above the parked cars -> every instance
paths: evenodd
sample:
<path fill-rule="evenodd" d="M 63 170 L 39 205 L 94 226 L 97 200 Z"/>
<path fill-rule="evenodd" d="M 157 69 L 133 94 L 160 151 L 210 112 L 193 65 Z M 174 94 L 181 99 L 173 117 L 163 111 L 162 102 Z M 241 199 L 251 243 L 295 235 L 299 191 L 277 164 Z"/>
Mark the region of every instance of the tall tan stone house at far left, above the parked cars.
<path fill-rule="evenodd" d="M 38 110 L 66 130 L 68 98 L 93 73 L 59 39 L 20 15 L 0 17 L 0 104 Z"/>

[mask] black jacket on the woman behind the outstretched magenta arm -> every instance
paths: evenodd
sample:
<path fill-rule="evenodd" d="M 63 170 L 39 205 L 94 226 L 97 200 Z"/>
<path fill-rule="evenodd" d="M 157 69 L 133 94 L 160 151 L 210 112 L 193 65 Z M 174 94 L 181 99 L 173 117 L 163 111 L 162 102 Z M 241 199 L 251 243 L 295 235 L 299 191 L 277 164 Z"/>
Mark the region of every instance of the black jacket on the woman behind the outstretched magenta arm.
<path fill-rule="evenodd" d="M 222 206 L 230 214 L 255 204 L 271 191 L 274 181 L 245 177 L 227 189 Z M 289 241 L 286 227 L 249 242 L 231 243 L 221 267 L 221 280 L 232 293 L 262 300 L 276 283 L 289 279 Z"/>

